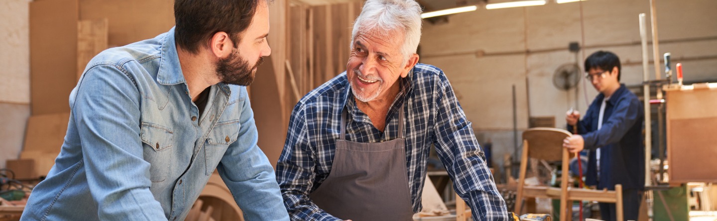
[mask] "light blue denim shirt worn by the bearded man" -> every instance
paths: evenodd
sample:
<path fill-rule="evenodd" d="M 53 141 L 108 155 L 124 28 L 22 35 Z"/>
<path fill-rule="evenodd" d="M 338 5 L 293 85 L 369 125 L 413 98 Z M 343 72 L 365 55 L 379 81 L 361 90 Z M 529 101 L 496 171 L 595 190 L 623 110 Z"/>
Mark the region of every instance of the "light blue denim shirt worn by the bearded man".
<path fill-rule="evenodd" d="M 92 59 L 70 108 L 22 220 L 184 220 L 215 168 L 246 220 L 288 220 L 247 89 L 213 85 L 199 114 L 174 28 Z"/>

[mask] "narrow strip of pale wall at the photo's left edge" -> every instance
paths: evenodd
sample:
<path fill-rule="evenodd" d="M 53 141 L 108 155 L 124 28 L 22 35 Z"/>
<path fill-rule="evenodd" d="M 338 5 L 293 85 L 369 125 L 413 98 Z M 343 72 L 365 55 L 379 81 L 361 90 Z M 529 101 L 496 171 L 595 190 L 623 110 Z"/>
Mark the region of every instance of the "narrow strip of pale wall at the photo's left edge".
<path fill-rule="evenodd" d="M 29 0 L 0 1 L 0 168 L 22 149 L 30 114 Z"/>

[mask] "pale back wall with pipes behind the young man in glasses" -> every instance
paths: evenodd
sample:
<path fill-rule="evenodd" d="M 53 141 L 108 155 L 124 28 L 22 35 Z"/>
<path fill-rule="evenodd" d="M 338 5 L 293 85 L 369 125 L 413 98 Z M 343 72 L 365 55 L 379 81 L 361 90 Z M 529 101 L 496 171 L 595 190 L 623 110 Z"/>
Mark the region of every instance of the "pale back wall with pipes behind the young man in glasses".
<path fill-rule="evenodd" d="M 671 52 L 673 65 L 682 60 L 687 82 L 716 81 L 717 1 L 656 0 L 656 6 L 660 57 Z M 455 14 L 447 22 L 424 22 L 420 62 L 445 71 L 479 141 L 490 139 L 493 159 L 502 163 L 514 147 L 511 85 L 516 85 L 520 131 L 528 127 L 528 116 L 554 116 L 556 126 L 563 127 L 570 107 L 584 113 L 597 95 L 589 82 L 587 87 L 581 82 L 575 104 L 574 92 L 553 86 L 555 69 L 575 60 L 567 49 L 570 41 L 584 46 L 581 68 L 592 52 L 609 50 L 623 63 L 622 82 L 642 82 L 640 13 L 647 14 L 649 26 L 649 0 L 549 2 Z M 650 77 L 655 78 L 652 64 Z"/>

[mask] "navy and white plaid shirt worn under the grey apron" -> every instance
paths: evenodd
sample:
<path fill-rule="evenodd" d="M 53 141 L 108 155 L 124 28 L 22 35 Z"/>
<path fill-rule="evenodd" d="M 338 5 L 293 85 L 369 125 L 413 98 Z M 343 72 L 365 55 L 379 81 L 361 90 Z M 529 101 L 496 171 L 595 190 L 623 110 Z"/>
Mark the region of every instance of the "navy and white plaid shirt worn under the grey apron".
<path fill-rule="evenodd" d="M 399 81 L 402 89 L 389 109 L 385 132 L 374 128 L 369 117 L 356 107 L 346 72 L 313 89 L 296 104 L 276 167 L 290 218 L 339 220 L 313 204 L 308 195 L 331 172 L 334 142 L 341 134 L 341 111 L 346 106 L 346 139 L 353 142 L 397 138 L 399 111 L 404 112 L 406 166 L 414 212 L 422 208 L 423 182 L 433 144 L 455 181 L 457 194 L 473 209 L 474 219 L 508 220 L 505 202 L 485 164 L 485 154 L 445 74 L 437 67 L 417 64 L 409 77 Z M 405 104 L 404 109 L 400 109 L 401 104 Z"/>

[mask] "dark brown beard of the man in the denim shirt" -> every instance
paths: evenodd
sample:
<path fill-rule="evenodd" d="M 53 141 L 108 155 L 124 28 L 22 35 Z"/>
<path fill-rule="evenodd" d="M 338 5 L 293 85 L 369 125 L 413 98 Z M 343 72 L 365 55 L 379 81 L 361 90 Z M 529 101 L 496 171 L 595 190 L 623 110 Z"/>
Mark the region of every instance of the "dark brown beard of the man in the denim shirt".
<path fill-rule="evenodd" d="M 232 54 L 217 61 L 217 76 L 224 84 L 236 84 L 249 86 L 254 82 L 255 72 L 253 70 L 264 62 L 264 57 L 259 57 L 257 64 L 250 67 L 249 62 L 242 58 L 239 49 L 233 49 Z"/>

